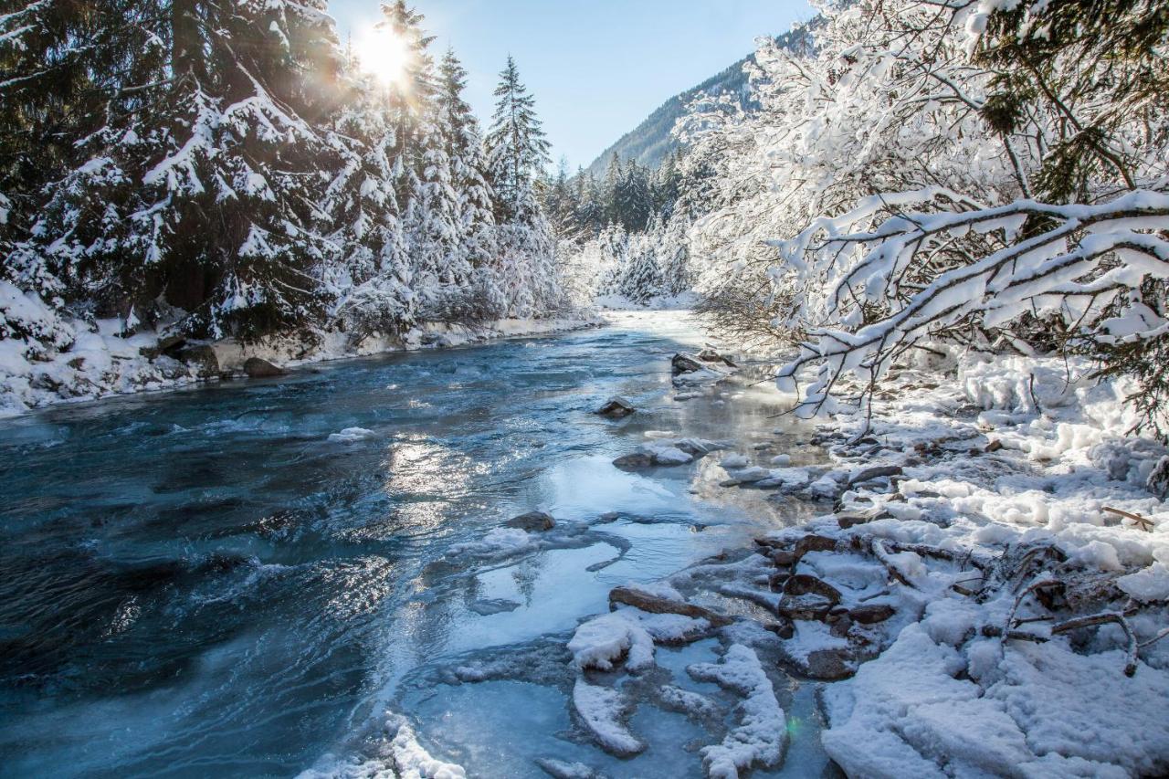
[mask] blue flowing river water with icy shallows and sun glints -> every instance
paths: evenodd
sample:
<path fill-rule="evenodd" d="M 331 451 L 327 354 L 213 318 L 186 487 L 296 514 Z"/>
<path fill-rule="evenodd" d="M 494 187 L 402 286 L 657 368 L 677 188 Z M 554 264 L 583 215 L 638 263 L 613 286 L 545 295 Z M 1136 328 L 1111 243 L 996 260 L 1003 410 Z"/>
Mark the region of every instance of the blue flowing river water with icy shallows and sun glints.
<path fill-rule="evenodd" d="M 680 715 L 639 709 L 631 725 L 651 747 L 634 760 L 581 738 L 558 652 L 611 587 L 746 545 L 797 511 L 719 489 L 711 457 L 611 466 L 646 430 L 747 451 L 775 441 L 800 461 L 801 432 L 773 434 L 791 423 L 772 418 L 763 388 L 673 399 L 669 356 L 703 340 L 685 315 L 615 315 L 555 338 L 0 422 L 0 774 L 368 768 L 401 712 L 471 775 L 544 775 L 539 757 L 700 775 L 693 750 L 708 739 Z M 590 413 L 615 393 L 642 411 Z M 354 427 L 372 435 L 330 440 Z M 532 509 L 558 518 L 562 543 L 497 565 L 451 553 Z M 607 512 L 618 516 L 599 522 Z M 659 663 L 680 671 L 715 648 L 662 650 Z M 469 657 L 511 657 L 520 673 L 443 675 Z M 793 731 L 814 729 L 811 688 L 789 680 L 780 694 Z M 824 764 L 796 737 L 780 773 Z"/>

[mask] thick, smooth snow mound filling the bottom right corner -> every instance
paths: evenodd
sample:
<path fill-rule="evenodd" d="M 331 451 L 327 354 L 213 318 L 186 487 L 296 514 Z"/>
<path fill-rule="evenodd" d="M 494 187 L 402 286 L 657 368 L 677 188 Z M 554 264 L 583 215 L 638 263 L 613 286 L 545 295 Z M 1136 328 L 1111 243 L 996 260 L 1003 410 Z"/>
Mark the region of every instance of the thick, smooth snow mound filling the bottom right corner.
<path fill-rule="evenodd" d="M 983 688 L 964 674 L 997 677 Z M 1128 678 L 1115 653 L 1058 642 L 964 652 L 911 625 L 824 702 L 824 749 L 850 775 L 1128 777 L 1169 765 L 1169 676 Z M 1137 725 L 1139 723 L 1139 725 Z M 946 771 L 941 770 L 946 766 Z"/>

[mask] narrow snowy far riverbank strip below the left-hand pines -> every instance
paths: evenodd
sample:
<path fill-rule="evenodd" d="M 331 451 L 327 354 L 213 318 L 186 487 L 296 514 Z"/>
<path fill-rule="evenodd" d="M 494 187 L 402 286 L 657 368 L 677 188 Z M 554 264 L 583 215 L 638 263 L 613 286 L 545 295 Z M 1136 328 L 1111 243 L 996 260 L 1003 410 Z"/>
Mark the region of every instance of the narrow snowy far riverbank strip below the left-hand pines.
<path fill-rule="evenodd" d="M 388 352 L 448 349 L 500 338 L 547 336 L 601 324 L 599 317 L 499 319 L 475 325 L 424 323 L 401 336 L 354 342 L 343 332 L 319 333 L 316 342 L 278 337 L 242 344 L 228 338 L 196 342 L 164 338 L 153 331 L 122 336 L 122 322 L 77 323 L 67 349 L 29 359 L 27 344 L 0 340 L 0 418 L 34 408 L 111 395 L 158 392 L 207 381 L 244 378 L 249 359 L 283 370 L 312 363 Z M 276 373 L 276 371 L 271 371 Z"/>

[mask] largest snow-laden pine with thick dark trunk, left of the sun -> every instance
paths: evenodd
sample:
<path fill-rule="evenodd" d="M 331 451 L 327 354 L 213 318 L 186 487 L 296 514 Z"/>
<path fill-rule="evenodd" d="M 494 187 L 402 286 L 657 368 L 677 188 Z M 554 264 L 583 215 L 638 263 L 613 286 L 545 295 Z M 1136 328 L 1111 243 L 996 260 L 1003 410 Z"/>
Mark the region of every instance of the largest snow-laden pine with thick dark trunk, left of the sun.
<path fill-rule="evenodd" d="M 340 56 L 323 0 L 159 11 L 126 9 L 144 40 L 14 256 L 40 257 L 99 316 L 171 304 L 188 332 L 242 337 L 317 320 L 332 251 L 318 172 L 339 151 L 324 129 Z"/>

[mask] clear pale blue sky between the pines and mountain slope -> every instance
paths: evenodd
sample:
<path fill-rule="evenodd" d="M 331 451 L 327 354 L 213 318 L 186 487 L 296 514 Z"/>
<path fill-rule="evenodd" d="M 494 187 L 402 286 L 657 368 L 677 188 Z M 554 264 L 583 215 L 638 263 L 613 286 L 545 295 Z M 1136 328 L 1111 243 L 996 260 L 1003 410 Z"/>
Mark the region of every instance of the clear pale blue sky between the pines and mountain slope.
<path fill-rule="evenodd" d="M 553 154 L 588 165 L 669 97 L 812 16 L 807 0 L 415 0 L 436 53 L 454 46 L 468 99 L 490 119 L 507 54 L 535 95 Z M 380 0 L 330 0 L 344 41 Z"/>

